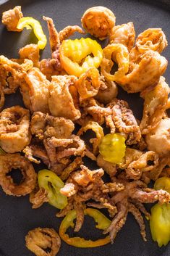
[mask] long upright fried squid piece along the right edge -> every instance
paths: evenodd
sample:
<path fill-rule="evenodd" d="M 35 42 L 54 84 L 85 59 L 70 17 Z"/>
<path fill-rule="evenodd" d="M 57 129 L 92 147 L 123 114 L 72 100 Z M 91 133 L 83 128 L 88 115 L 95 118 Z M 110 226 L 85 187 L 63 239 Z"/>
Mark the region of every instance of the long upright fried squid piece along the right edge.
<path fill-rule="evenodd" d="M 142 134 L 150 133 L 163 118 L 166 110 L 170 88 L 165 82 L 165 78 L 161 76 L 158 85 L 154 88 L 146 88 L 140 96 L 145 99 L 143 109 L 143 119 L 140 123 L 140 131 Z"/>

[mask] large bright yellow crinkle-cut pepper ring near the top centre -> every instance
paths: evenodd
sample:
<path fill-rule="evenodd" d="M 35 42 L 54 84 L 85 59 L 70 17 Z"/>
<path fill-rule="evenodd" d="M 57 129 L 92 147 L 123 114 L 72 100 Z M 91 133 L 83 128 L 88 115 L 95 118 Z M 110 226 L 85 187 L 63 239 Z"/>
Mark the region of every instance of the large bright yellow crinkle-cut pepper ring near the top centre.
<path fill-rule="evenodd" d="M 79 77 L 89 67 L 98 68 L 101 65 L 103 50 L 97 41 L 90 38 L 69 39 L 62 42 L 59 54 L 64 70 Z"/>

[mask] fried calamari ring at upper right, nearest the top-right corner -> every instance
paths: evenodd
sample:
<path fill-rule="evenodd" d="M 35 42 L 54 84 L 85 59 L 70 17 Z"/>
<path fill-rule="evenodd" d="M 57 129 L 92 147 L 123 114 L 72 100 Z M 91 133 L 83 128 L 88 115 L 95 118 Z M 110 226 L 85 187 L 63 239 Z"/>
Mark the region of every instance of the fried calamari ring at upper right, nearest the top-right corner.
<path fill-rule="evenodd" d="M 158 51 L 161 53 L 166 48 L 168 42 L 161 28 L 148 28 L 140 33 L 136 39 L 137 49 L 143 53 L 147 50 Z"/>

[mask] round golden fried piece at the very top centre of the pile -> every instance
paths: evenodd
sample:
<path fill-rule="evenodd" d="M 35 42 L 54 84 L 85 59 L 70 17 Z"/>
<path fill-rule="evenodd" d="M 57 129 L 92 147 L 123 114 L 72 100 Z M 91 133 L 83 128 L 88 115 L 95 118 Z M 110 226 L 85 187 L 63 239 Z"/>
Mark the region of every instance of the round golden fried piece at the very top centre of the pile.
<path fill-rule="evenodd" d="M 114 27 L 116 17 L 106 7 L 91 7 L 82 16 L 82 27 L 92 36 L 105 39 Z"/>

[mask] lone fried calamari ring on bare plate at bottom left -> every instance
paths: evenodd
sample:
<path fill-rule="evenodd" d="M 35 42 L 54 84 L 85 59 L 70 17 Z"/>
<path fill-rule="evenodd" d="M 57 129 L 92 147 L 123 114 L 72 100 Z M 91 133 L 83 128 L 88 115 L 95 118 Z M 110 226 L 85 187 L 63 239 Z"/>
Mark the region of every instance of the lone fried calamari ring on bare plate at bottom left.
<path fill-rule="evenodd" d="M 61 239 L 53 228 L 35 228 L 28 232 L 25 241 L 27 249 L 36 256 L 56 256 L 61 247 Z"/>

